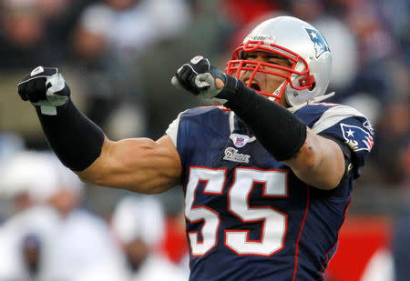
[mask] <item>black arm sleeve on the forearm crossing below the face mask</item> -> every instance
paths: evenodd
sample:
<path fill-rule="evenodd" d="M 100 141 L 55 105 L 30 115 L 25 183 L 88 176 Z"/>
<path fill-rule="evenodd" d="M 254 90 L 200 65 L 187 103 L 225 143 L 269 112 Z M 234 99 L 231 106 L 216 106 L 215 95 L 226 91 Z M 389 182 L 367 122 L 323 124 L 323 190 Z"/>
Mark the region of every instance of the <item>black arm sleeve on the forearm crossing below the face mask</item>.
<path fill-rule="evenodd" d="M 240 80 L 227 75 L 218 95 L 238 115 L 278 161 L 292 158 L 304 144 L 306 125 L 289 110 L 257 94 Z"/>

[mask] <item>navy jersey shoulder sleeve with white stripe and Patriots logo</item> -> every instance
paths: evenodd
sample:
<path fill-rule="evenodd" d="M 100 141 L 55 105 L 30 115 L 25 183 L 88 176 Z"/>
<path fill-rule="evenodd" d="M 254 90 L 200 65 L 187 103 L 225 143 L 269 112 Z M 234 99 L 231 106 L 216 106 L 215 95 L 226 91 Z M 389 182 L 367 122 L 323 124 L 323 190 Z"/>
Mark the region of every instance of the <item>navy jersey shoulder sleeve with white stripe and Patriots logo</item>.
<path fill-rule="evenodd" d="M 298 116 L 313 133 L 342 139 L 352 151 L 354 178 L 374 145 L 374 129 L 358 110 L 347 105 L 308 105 Z"/>

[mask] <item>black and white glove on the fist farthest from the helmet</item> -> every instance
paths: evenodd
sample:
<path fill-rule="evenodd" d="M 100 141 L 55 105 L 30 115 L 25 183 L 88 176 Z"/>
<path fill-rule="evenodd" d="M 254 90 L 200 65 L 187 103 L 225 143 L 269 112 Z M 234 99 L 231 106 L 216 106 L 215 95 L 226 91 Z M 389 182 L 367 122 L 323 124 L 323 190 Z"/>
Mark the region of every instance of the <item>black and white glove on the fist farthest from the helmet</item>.
<path fill-rule="evenodd" d="M 56 67 L 37 66 L 18 83 L 17 91 L 24 101 L 42 107 L 64 105 L 70 96 L 70 88 Z"/>

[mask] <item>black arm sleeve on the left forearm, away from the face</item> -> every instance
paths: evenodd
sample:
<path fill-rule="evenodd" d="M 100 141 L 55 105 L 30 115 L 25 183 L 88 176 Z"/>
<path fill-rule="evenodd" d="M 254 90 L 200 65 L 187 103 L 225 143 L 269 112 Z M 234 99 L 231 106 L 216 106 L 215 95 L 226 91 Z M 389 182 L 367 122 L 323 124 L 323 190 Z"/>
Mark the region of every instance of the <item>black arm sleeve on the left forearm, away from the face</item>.
<path fill-rule="evenodd" d="M 82 171 L 100 156 L 105 135 L 71 99 L 57 106 L 56 111 L 56 115 L 43 115 L 40 106 L 36 106 L 47 142 L 56 156 L 64 166 Z"/>

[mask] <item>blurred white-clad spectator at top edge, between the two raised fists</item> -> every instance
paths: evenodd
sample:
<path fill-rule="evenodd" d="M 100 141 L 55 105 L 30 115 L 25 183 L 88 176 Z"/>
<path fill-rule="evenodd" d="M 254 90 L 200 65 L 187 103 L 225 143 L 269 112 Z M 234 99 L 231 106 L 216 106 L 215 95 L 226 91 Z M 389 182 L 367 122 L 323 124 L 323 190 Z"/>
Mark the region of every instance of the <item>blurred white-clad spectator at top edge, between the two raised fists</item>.
<path fill-rule="evenodd" d="M 138 56 L 146 48 L 179 34 L 190 18 L 183 0 L 104 0 L 112 12 L 106 30 L 119 58 Z"/>

